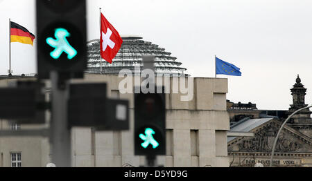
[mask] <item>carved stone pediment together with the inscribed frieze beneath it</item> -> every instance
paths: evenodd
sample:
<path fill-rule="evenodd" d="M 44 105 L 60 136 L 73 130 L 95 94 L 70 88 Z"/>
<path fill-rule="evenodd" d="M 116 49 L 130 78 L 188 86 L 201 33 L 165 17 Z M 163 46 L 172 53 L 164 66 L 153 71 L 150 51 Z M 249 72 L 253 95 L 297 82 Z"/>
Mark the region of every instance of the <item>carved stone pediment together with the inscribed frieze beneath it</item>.
<path fill-rule="evenodd" d="M 270 153 L 281 122 L 272 119 L 250 132 L 254 137 L 236 137 L 227 144 L 230 166 L 270 165 Z M 275 149 L 273 166 L 312 166 L 312 139 L 285 126 Z"/>

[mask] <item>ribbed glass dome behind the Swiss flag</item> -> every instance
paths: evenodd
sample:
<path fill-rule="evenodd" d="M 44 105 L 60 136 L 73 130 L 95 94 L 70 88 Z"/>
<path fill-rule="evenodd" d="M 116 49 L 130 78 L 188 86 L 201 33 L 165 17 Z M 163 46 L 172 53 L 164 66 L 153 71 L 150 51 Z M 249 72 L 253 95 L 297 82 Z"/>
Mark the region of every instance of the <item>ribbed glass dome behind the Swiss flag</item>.
<path fill-rule="evenodd" d="M 135 67 L 143 67 L 144 55 L 152 55 L 155 57 L 156 73 L 165 76 L 186 76 L 184 72 L 187 68 L 180 67 L 181 62 L 176 61 L 176 57 L 172 57 L 171 53 L 165 51 L 165 48 L 160 48 L 156 44 L 142 40 L 142 37 L 135 35 L 122 36 L 123 44 L 119 53 L 114 58 L 113 64 L 103 62 L 101 71 L 101 55 L 100 55 L 100 39 L 92 39 L 87 41 L 87 73 L 90 74 L 114 74 L 118 75 L 119 71 L 127 68 L 135 73 Z"/>

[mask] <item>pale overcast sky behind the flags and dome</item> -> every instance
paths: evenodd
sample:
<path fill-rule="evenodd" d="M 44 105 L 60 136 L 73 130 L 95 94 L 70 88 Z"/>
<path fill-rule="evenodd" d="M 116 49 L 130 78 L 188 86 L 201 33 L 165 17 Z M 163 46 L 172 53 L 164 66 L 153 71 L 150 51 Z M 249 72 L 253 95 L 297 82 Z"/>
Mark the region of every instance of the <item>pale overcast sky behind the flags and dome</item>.
<path fill-rule="evenodd" d="M 88 40 L 98 39 L 98 8 L 121 35 L 171 52 L 193 77 L 214 77 L 214 56 L 239 68 L 227 99 L 288 109 L 297 74 L 312 104 L 311 0 L 136 0 L 88 2 Z M 8 19 L 36 35 L 34 0 L 0 0 L 0 74 L 8 71 Z M 16 74 L 36 73 L 34 47 L 12 43 Z"/>

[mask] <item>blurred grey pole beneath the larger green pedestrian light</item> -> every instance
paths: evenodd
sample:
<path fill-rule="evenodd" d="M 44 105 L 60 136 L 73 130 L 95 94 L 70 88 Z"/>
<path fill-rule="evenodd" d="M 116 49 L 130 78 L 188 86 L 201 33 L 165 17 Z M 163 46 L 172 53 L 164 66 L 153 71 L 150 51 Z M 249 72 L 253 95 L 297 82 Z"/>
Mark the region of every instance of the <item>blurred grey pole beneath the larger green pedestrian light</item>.
<path fill-rule="evenodd" d="M 66 80 L 56 72 L 51 73 L 52 83 L 52 160 L 58 167 L 71 166 L 71 131 L 67 122 L 67 98 L 69 88 Z"/>

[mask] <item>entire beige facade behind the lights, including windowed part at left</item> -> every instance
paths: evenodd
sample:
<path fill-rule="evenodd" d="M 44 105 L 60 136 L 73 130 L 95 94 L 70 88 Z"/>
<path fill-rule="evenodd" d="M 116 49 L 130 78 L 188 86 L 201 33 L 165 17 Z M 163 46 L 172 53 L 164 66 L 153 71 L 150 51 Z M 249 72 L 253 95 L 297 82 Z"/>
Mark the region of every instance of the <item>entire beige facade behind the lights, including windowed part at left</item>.
<path fill-rule="evenodd" d="M 131 144 L 134 127 L 134 96 L 130 93 L 119 93 L 119 82 L 122 79 L 115 75 L 86 75 L 84 80 L 73 81 L 106 82 L 107 97 L 128 99 L 130 130 L 101 132 L 94 131 L 92 128 L 72 128 L 72 166 L 120 167 L 145 164 L 144 157 L 134 155 L 133 144 Z M 8 84 L 10 81 L 1 80 L 0 84 Z M 173 82 L 172 77 L 170 82 Z M 173 84 L 170 85 L 172 90 Z M 47 86 L 49 87 L 49 83 Z M 157 164 L 168 167 L 229 166 L 227 79 L 194 78 L 193 90 L 193 99 L 189 102 L 180 100 L 181 93 L 174 94 L 171 91 L 170 94 L 166 94 L 167 151 L 166 156 L 157 157 Z M 46 166 L 50 162 L 48 139 L 23 138 L 29 145 L 31 143 L 37 145 L 31 148 L 26 145 L 18 147 L 15 142 L 7 146 L 8 139 L 20 140 L 21 137 L 0 137 L 0 153 L 3 159 L 10 160 L 10 151 L 21 151 L 22 166 Z M 33 156 L 28 156 L 28 153 L 36 155 L 36 159 L 40 158 L 40 161 L 31 161 Z M 29 160 L 26 160 L 24 155 L 27 155 Z M 10 162 L 1 163 L 0 166 L 10 166 Z"/>

